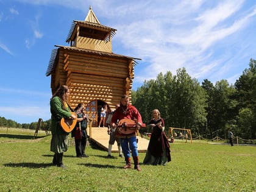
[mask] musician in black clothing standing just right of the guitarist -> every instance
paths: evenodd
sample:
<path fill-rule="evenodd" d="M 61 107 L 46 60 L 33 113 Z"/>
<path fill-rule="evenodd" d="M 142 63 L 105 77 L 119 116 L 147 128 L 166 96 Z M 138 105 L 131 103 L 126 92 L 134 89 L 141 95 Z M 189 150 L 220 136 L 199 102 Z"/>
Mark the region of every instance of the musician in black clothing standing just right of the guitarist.
<path fill-rule="evenodd" d="M 77 124 L 71 132 L 71 137 L 74 137 L 76 144 L 76 157 L 89 157 L 85 154 L 87 143 L 87 115 L 84 113 L 84 104 L 78 104 L 74 111 L 77 113 Z"/>

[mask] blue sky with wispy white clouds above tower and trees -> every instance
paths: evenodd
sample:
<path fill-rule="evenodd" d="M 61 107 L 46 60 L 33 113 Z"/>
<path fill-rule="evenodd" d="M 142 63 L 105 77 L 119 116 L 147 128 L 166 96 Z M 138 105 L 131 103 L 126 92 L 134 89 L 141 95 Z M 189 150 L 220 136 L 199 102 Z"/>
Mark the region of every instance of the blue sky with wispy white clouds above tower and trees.
<path fill-rule="evenodd" d="M 115 54 L 140 58 L 133 90 L 157 74 L 184 67 L 199 82 L 230 84 L 256 59 L 254 0 L 0 0 L 0 116 L 18 123 L 48 120 L 54 45 L 90 5 L 104 26 L 117 29 Z"/>

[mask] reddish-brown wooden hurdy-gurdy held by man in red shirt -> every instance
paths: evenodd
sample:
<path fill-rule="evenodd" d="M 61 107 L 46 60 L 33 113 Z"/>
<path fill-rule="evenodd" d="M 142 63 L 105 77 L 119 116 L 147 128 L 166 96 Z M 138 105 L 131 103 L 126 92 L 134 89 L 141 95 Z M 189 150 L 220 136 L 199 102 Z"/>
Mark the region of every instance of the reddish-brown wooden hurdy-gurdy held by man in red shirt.
<path fill-rule="evenodd" d="M 141 127 L 146 127 L 146 124 L 143 123 Z M 137 132 L 137 123 L 132 119 L 121 119 L 116 128 L 119 133 L 129 135 L 133 132 Z"/>

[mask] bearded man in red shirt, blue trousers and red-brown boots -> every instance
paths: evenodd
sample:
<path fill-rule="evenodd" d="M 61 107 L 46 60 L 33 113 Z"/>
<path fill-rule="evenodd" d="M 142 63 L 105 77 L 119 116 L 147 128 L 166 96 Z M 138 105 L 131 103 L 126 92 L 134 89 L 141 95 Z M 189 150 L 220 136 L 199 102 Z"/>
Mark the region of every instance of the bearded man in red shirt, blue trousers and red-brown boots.
<path fill-rule="evenodd" d="M 116 127 L 116 122 L 120 121 L 121 119 L 134 120 L 137 123 L 137 130 L 140 129 L 141 125 L 143 124 L 140 112 L 138 112 L 137 108 L 129 103 L 129 97 L 127 95 L 123 95 L 121 97 L 120 107 L 116 109 L 114 115 L 112 116 L 112 127 Z M 132 163 L 130 162 L 130 151 L 132 151 L 134 169 L 141 171 L 138 160 L 136 130 L 127 135 L 118 132 L 116 129 L 116 137 L 120 138 L 121 147 L 126 160 L 126 166 L 124 166 L 124 169 L 132 168 Z"/>

